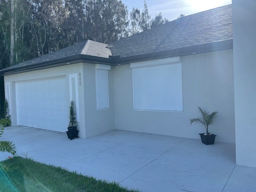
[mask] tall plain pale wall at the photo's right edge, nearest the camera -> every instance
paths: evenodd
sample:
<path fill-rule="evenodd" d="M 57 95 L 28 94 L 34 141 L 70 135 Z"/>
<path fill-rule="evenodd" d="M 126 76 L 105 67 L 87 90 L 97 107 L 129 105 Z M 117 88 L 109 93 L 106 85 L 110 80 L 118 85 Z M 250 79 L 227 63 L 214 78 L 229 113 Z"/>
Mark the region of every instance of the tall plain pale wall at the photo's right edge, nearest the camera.
<path fill-rule="evenodd" d="M 232 0 L 236 164 L 256 167 L 256 1 Z"/>

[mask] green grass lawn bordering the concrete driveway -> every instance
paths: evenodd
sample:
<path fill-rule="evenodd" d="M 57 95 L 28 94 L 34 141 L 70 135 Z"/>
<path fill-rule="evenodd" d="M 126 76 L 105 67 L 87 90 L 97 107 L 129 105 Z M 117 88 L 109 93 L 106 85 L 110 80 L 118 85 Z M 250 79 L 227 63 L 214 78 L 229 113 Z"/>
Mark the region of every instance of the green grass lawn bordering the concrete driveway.
<path fill-rule="evenodd" d="M 31 159 L 14 157 L 0 162 L 0 192 L 137 192 L 48 166 Z"/>

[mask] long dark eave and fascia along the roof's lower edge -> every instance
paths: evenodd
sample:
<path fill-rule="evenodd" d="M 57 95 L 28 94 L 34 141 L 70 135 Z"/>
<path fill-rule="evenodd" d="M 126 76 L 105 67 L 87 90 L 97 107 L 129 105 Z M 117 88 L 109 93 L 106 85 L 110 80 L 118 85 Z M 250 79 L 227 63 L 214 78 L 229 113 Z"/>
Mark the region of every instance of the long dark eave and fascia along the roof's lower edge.
<path fill-rule="evenodd" d="M 155 53 L 146 53 L 146 54 L 123 57 L 123 58 L 120 56 L 103 58 L 103 57 L 97 57 L 92 55 L 79 54 L 79 55 L 68 56 L 65 58 L 57 59 L 57 60 L 41 62 L 34 65 L 20 66 L 12 69 L 3 69 L 0 71 L 0 75 L 24 73 L 24 72 L 34 71 L 34 70 L 57 67 L 57 66 L 71 65 L 75 63 L 93 63 L 93 64 L 100 63 L 100 64 L 106 64 L 111 66 L 117 66 L 117 65 L 125 65 L 133 62 L 138 62 L 138 61 L 155 60 L 155 59 L 175 57 L 175 56 L 187 56 L 187 55 L 200 54 L 200 53 L 210 53 L 210 52 L 223 51 L 228 49 L 233 49 L 233 39 L 199 44 L 195 46 L 185 46 L 181 48 L 169 49 L 169 50 L 155 52 Z"/>

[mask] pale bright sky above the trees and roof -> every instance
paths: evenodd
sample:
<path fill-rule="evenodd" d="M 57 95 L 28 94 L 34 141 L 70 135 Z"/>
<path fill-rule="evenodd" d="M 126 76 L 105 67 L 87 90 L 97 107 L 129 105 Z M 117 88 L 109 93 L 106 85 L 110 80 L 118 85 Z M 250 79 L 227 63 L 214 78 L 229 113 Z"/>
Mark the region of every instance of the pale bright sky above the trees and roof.
<path fill-rule="evenodd" d="M 130 13 L 133 9 L 143 10 L 144 0 L 122 0 Z M 232 0 L 146 0 L 148 13 L 151 19 L 162 13 L 162 17 L 168 20 L 175 20 L 181 13 L 185 16 L 209 10 L 224 5 L 229 5 Z"/>

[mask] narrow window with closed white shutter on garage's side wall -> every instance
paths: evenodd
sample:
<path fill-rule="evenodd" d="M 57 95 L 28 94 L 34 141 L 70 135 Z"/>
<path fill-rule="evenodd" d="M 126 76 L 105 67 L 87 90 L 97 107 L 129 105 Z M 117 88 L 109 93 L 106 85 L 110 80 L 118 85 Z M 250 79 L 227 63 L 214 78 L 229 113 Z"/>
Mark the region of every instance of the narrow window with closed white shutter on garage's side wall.
<path fill-rule="evenodd" d="M 108 65 L 96 65 L 96 100 L 97 110 L 108 109 Z"/>

